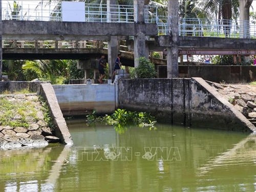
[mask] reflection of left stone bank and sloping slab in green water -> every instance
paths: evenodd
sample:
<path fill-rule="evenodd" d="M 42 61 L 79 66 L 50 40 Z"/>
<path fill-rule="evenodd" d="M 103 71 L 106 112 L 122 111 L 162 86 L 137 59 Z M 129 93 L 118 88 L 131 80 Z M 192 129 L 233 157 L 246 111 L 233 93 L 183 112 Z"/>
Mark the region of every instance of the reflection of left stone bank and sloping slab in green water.
<path fill-rule="evenodd" d="M 0 191 L 53 191 L 62 159 L 69 148 L 60 144 L 45 148 L 0 151 Z"/>

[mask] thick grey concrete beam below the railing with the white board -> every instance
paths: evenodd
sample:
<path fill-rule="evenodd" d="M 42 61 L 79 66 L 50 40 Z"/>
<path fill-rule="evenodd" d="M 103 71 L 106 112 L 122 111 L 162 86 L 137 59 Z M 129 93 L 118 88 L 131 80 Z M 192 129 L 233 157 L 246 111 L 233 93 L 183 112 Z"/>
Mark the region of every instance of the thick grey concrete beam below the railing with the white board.
<path fill-rule="evenodd" d="M 62 39 L 73 36 L 73 40 L 86 36 L 129 36 L 142 32 L 145 35 L 157 35 L 156 24 L 136 23 L 87 23 L 87 22 L 39 22 L 28 20 L 3 20 L 3 38 L 10 39 Z M 27 35 L 27 36 L 26 36 Z M 37 36 L 37 38 L 35 37 Z M 15 38 L 14 38 L 15 39 Z M 100 38 L 102 39 L 102 38 Z"/>

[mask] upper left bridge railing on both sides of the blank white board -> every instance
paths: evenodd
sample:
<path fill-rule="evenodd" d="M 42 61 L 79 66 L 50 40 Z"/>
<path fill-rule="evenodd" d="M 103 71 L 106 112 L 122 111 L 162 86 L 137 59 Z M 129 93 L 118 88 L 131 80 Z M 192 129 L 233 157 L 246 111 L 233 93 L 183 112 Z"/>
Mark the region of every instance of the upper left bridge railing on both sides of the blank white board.
<path fill-rule="evenodd" d="M 3 20 L 62 21 L 61 1 L 2 2 Z M 84 22 L 134 23 L 134 6 L 86 4 Z"/>

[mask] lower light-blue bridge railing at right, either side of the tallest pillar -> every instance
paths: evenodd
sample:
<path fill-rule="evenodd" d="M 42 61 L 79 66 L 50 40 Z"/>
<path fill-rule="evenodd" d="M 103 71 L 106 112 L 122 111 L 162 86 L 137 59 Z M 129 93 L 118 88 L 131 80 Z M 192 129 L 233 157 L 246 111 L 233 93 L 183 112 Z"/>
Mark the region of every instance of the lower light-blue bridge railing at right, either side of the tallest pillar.
<path fill-rule="evenodd" d="M 158 35 L 167 35 L 169 24 L 166 16 L 157 17 Z M 208 20 L 181 18 L 180 36 L 256 38 L 256 22 L 244 20 Z"/>

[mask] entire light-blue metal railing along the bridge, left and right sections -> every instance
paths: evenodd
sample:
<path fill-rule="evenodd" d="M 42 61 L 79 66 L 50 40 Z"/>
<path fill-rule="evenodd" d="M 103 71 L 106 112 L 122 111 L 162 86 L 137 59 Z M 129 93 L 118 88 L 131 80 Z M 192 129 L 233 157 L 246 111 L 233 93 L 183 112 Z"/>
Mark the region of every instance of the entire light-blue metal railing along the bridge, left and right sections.
<path fill-rule="evenodd" d="M 134 6 L 84 3 L 84 8 L 84 22 L 136 22 L 137 9 Z M 61 1 L 2 1 L 2 15 L 3 20 L 61 21 Z M 144 16 L 145 23 L 157 25 L 158 35 L 167 35 L 167 17 L 158 15 L 155 6 L 145 6 Z M 256 24 L 255 21 L 181 18 L 179 35 L 256 38 Z"/>

